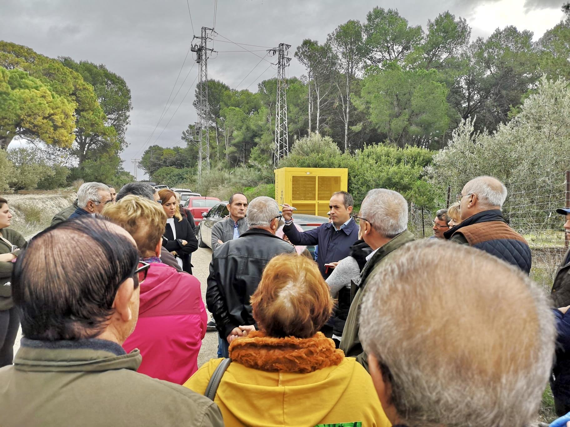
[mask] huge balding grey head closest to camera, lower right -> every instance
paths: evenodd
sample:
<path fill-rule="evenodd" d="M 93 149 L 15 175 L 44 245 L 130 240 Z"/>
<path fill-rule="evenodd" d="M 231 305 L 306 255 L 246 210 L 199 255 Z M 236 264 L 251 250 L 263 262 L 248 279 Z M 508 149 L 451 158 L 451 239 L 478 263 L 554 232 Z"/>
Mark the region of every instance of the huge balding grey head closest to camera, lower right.
<path fill-rule="evenodd" d="M 360 337 L 394 427 L 536 425 L 554 317 L 506 262 L 441 240 L 405 245 L 370 277 Z"/>

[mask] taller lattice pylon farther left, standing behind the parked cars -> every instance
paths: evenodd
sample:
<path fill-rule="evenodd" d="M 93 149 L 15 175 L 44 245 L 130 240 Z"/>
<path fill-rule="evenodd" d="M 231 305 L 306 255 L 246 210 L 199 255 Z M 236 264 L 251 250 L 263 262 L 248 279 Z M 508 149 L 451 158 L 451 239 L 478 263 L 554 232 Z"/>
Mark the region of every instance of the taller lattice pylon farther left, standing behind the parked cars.
<path fill-rule="evenodd" d="M 209 36 L 208 31 L 212 28 L 202 27 L 200 44 L 194 44 L 191 50 L 196 52 L 196 62 L 200 64 L 200 80 L 198 80 L 198 140 L 194 140 L 198 145 L 198 178 L 202 176 L 202 170 L 210 170 L 210 105 L 208 104 L 208 52 L 212 52 L 207 47 Z M 211 34 L 211 33 L 210 33 Z M 194 41 L 192 39 L 192 41 Z"/>

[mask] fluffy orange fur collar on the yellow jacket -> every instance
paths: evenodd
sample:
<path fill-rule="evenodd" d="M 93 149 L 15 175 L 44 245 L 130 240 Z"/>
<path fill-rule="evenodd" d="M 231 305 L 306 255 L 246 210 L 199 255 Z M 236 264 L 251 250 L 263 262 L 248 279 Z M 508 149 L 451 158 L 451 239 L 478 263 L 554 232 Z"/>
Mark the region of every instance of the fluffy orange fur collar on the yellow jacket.
<path fill-rule="evenodd" d="M 344 353 L 322 332 L 302 339 L 294 336 L 272 338 L 261 331 L 253 331 L 230 344 L 230 358 L 260 371 L 308 373 L 340 364 Z"/>

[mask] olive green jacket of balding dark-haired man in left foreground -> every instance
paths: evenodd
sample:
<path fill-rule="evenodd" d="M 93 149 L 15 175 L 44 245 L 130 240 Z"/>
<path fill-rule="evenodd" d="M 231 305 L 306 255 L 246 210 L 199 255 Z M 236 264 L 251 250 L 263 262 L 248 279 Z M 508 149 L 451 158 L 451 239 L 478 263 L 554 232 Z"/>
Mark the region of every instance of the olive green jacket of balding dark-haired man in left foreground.
<path fill-rule="evenodd" d="M 23 338 L 14 365 L 0 368 L 0 425 L 223 426 L 213 401 L 137 373 L 141 360 L 107 340 Z"/>

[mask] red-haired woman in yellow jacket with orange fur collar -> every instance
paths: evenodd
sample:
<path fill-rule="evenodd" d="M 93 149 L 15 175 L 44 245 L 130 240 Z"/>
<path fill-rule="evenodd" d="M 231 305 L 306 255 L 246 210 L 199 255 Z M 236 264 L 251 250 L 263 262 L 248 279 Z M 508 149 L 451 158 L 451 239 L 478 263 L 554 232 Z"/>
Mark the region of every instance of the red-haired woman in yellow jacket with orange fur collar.
<path fill-rule="evenodd" d="M 283 254 L 268 262 L 251 296 L 258 330 L 244 327 L 231 341 L 215 394 L 226 425 L 390 425 L 365 369 L 319 332 L 333 305 L 314 261 Z M 184 385 L 205 393 L 222 360 Z"/>

